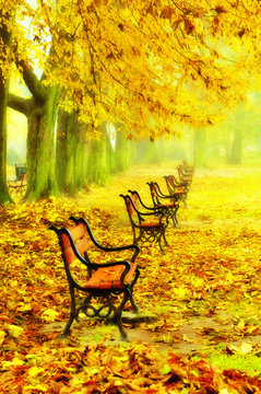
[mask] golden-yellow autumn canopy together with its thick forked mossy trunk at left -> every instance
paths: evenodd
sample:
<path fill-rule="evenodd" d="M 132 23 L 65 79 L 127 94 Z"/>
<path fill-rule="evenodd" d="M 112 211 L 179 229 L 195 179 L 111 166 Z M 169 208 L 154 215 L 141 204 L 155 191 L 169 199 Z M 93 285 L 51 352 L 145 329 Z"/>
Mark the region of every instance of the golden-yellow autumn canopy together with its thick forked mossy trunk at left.
<path fill-rule="evenodd" d="M 259 83 L 259 11 L 258 0 L 2 2 L 1 79 L 15 69 L 32 93 L 8 102 L 28 120 L 27 197 L 57 190 L 58 108 L 92 137 L 108 120 L 154 139 L 224 119 Z"/>

